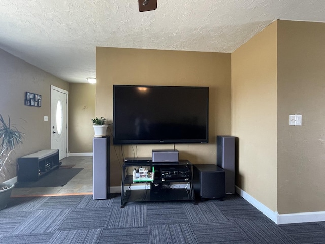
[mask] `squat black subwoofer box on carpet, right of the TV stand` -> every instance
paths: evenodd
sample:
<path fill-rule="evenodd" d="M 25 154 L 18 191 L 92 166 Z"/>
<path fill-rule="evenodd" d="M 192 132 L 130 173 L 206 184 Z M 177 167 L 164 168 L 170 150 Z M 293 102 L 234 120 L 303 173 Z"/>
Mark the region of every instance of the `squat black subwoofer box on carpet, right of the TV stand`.
<path fill-rule="evenodd" d="M 215 164 L 193 166 L 196 199 L 218 199 L 225 196 L 225 172 Z"/>

